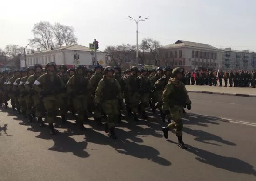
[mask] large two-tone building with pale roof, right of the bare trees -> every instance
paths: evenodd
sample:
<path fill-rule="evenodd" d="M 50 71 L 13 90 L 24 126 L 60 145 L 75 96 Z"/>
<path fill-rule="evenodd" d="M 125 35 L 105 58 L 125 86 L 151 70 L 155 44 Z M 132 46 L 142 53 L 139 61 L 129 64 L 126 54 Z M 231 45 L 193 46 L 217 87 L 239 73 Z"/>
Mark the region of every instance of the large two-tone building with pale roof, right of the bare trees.
<path fill-rule="evenodd" d="M 178 40 L 160 49 L 160 66 L 194 69 L 218 69 L 223 51 L 208 44 Z M 221 65 L 220 65 L 221 66 Z"/>

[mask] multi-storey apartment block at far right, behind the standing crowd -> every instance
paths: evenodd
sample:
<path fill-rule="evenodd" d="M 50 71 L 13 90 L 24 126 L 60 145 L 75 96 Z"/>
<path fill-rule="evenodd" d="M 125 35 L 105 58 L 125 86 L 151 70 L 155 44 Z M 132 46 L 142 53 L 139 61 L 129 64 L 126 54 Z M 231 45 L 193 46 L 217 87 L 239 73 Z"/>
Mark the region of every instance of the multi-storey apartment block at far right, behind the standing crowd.
<path fill-rule="evenodd" d="M 224 48 L 222 50 L 222 70 L 253 70 L 254 52 L 232 50 L 231 48 Z"/>

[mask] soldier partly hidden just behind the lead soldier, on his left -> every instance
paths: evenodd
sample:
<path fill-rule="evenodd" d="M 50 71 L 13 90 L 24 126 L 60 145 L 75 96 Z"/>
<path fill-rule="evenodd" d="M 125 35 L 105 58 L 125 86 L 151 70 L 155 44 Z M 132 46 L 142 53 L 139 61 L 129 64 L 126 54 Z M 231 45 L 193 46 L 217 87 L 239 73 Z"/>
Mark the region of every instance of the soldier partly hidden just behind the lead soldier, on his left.
<path fill-rule="evenodd" d="M 168 84 L 168 81 L 170 79 L 171 68 L 165 67 L 163 69 L 163 72 L 164 72 L 164 76 L 155 82 L 155 91 L 157 92 L 156 93 L 156 96 L 157 96 L 156 100 L 158 102 L 157 107 L 160 111 L 162 121 L 165 122 L 165 114 L 162 111 L 163 102 L 162 102 L 161 96 L 162 96 L 162 92 L 163 92 L 165 86 Z M 171 122 L 171 117 L 168 117 L 168 123 L 170 123 L 170 122 Z"/>

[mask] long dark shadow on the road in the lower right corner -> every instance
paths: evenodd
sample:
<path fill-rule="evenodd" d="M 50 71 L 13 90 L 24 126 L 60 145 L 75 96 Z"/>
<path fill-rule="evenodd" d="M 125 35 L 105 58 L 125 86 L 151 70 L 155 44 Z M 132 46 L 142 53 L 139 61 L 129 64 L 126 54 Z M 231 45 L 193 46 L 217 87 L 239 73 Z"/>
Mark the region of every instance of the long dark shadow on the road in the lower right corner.
<path fill-rule="evenodd" d="M 188 146 L 188 149 L 186 150 L 190 153 L 195 154 L 197 156 L 195 159 L 199 162 L 231 172 L 244 173 L 256 176 L 256 170 L 253 169 L 253 166 L 247 162 L 244 162 L 243 160 L 217 155 L 215 153 L 192 146 Z"/>

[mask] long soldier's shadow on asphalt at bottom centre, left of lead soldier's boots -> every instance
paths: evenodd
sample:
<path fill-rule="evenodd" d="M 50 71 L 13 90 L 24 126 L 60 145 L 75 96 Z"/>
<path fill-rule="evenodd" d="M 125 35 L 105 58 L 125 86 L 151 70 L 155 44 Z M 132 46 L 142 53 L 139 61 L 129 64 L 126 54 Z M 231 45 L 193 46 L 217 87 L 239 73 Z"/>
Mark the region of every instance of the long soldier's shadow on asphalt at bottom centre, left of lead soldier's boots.
<path fill-rule="evenodd" d="M 109 145 L 120 154 L 130 155 L 141 159 L 148 159 L 163 166 L 171 165 L 171 162 L 159 156 L 160 152 L 157 149 L 147 145 L 141 145 L 137 144 L 136 142 L 129 141 L 128 139 L 125 139 L 123 137 L 123 132 L 123 130 L 117 129 L 116 134 L 119 137 L 116 141 L 114 141 L 109 136 L 96 132 L 93 129 L 88 129 L 85 133 L 85 140 L 87 142 L 92 142 L 95 144 Z M 129 136 L 129 138 L 131 139 L 132 137 L 133 135 Z"/>

